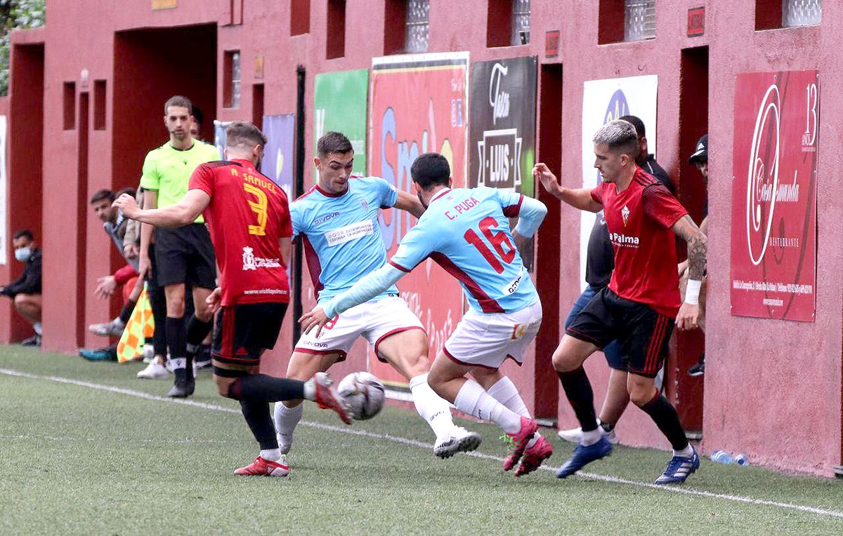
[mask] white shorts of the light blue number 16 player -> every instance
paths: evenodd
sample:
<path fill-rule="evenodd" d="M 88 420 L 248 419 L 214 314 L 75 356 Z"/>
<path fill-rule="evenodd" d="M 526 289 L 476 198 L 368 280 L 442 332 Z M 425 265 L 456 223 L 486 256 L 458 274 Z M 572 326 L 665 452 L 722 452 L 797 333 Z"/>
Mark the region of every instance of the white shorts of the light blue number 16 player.
<path fill-rule="evenodd" d="M 513 313 L 481 313 L 472 309 L 445 341 L 443 352 L 452 361 L 473 367 L 497 370 L 506 358 L 520 366 L 524 350 L 540 326 L 540 300 Z"/>

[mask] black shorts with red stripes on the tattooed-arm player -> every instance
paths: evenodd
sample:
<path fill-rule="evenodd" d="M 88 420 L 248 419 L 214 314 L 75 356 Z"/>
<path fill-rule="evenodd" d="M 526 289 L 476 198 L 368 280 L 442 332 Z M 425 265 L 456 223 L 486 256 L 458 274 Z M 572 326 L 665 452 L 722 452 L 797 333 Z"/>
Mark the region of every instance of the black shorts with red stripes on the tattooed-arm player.
<path fill-rule="evenodd" d="M 655 378 L 668 354 L 675 319 L 648 305 L 601 289 L 566 329 L 571 337 L 604 348 L 617 339 L 626 370 Z"/>

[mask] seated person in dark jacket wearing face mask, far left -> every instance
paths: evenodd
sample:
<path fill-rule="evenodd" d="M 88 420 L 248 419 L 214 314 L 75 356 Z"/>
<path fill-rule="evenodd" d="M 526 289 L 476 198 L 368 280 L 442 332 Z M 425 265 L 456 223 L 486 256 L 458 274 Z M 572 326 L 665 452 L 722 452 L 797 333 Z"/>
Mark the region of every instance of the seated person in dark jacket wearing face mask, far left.
<path fill-rule="evenodd" d="M 0 287 L 0 295 L 14 301 L 14 309 L 35 330 L 35 335 L 24 339 L 24 346 L 41 345 L 41 250 L 35 245 L 32 231 L 24 229 L 14 233 L 14 257 L 24 263 L 24 273 L 18 279 Z"/>

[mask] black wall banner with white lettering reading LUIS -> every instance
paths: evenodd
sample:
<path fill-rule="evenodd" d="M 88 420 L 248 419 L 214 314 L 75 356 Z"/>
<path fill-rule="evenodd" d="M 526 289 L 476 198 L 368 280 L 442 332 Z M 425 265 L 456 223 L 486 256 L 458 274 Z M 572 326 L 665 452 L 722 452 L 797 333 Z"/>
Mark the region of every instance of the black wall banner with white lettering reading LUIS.
<path fill-rule="evenodd" d="M 471 64 L 469 186 L 534 197 L 535 57 Z"/>

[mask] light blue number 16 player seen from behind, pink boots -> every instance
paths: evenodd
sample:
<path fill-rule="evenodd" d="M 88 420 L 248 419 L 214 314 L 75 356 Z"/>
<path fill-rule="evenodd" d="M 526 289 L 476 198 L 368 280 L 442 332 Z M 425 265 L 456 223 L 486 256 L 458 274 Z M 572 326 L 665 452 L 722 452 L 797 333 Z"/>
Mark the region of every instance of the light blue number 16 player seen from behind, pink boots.
<path fill-rule="evenodd" d="M 432 258 L 459 280 L 470 310 L 448 337 L 427 381 L 460 411 L 501 426 L 511 439 L 504 470 L 513 469 L 520 459 L 515 475 L 526 475 L 538 469 L 553 448 L 536 432 L 538 426 L 518 390 L 499 369 L 507 358 L 521 364 L 541 325 L 539 295 L 518 246 L 533 236 L 547 209 L 535 199 L 494 188 L 450 188 L 448 161 L 437 153 L 418 157 L 411 173 L 427 207 L 418 224 L 389 264 L 320 302 L 303 316 L 302 325 L 307 332 L 319 332 L 330 325 L 331 317 L 392 288 L 405 273 Z M 518 226 L 510 232 L 508 218 L 514 217 Z M 469 372 L 476 381 L 466 378 Z"/>

